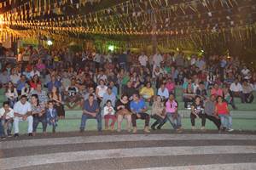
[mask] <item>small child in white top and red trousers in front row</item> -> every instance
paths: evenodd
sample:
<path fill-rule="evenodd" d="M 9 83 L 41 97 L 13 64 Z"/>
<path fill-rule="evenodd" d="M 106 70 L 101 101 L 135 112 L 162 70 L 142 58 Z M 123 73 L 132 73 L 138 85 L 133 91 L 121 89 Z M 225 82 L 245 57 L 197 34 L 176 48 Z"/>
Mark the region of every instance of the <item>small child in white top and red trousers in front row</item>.
<path fill-rule="evenodd" d="M 113 105 L 110 99 L 108 99 L 106 106 L 104 107 L 104 119 L 105 119 L 105 129 L 108 130 L 109 119 L 112 119 L 111 130 L 114 128 L 114 123 L 116 122 L 116 117 L 114 115 Z"/>

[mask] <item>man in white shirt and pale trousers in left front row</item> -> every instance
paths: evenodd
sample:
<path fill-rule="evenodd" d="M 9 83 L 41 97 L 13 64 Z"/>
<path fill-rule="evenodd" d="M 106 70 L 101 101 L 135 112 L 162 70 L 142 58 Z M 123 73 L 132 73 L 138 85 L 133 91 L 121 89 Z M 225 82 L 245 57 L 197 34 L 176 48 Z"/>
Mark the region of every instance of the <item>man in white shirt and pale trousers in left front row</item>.
<path fill-rule="evenodd" d="M 20 101 L 18 101 L 15 104 L 14 111 L 15 111 L 15 122 L 14 122 L 15 137 L 19 136 L 19 122 L 20 121 L 28 122 L 27 133 L 28 133 L 28 136 L 32 136 L 32 129 L 33 129 L 33 127 L 32 127 L 32 125 L 33 125 L 32 106 L 27 101 L 25 95 L 22 95 L 20 97 Z"/>

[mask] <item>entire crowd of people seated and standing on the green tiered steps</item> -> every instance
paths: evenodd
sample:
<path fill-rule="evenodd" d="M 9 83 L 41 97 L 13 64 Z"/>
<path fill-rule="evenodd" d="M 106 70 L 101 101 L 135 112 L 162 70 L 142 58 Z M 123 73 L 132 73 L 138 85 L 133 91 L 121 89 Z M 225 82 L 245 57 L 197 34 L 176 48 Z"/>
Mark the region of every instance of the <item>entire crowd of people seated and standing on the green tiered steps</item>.
<path fill-rule="evenodd" d="M 28 122 L 30 136 L 36 135 L 40 122 L 43 133 L 48 126 L 55 133 L 58 120 L 65 118 L 65 106 L 82 108 L 81 133 L 87 119 L 96 119 L 98 131 L 104 119 L 106 130 L 114 130 L 117 122 L 120 132 L 125 119 L 126 130 L 137 133 L 137 119 L 143 119 L 145 133 L 166 122 L 181 132 L 177 86 L 183 88 L 184 107 L 191 110 L 192 129 L 195 119 L 201 118 L 201 130 L 206 130 L 208 119 L 220 132 L 231 132 L 229 105 L 239 109 L 235 98 L 250 105 L 256 90 L 256 71 L 238 57 L 188 57 L 183 52 L 148 56 L 129 50 L 73 53 L 68 48 L 43 47 L 28 47 L 19 56 L 16 63 L 1 61 L 0 65 L 0 86 L 6 96 L 0 110 L 3 139 L 12 135 L 13 125 L 18 137 L 21 121 Z M 155 120 L 151 126 L 150 118 Z"/>

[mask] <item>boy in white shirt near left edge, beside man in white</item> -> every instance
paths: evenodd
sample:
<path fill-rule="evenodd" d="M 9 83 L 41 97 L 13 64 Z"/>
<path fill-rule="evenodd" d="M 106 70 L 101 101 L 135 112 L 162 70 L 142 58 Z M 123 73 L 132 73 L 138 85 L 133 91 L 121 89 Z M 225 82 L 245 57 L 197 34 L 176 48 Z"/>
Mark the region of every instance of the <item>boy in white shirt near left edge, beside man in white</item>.
<path fill-rule="evenodd" d="M 14 118 L 14 110 L 10 108 L 8 101 L 3 102 L 3 107 L 0 109 L 0 119 L 1 119 L 0 126 L 3 127 L 3 131 L 2 131 L 2 135 L 0 136 L 2 137 L 11 136 L 12 127 L 13 127 L 13 118 Z"/>

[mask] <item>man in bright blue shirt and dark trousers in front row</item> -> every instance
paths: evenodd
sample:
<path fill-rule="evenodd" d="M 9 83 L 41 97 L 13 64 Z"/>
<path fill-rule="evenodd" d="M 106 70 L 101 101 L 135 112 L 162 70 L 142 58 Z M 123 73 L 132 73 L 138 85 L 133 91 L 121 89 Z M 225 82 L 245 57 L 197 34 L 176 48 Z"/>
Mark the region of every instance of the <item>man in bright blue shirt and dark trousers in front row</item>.
<path fill-rule="evenodd" d="M 148 129 L 150 117 L 147 113 L 145 113 L 147 111 L 145 101 L 143 99 L 140 99 L 138 94 L 133 94 L 132 99 L 133 100 L 131 101 L 130 108 L 132 112 L 131 122 L 133 127 L 133 133 L 137 133 L 137 125 L 136 125 L 137 119 L 145 120 L 144 132 L 150 133 Z"/>

